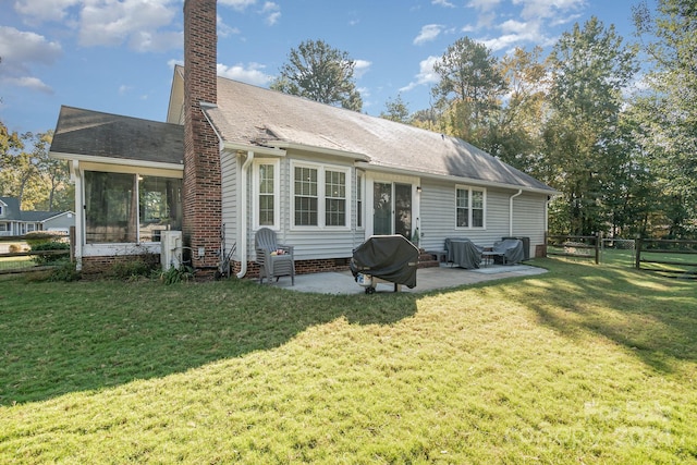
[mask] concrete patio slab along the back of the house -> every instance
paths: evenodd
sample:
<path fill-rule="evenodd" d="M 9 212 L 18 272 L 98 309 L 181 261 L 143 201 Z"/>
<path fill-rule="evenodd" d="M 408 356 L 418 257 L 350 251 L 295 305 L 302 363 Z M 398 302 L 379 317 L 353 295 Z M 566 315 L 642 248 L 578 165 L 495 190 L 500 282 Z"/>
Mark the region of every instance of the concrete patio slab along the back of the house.
<path fill-rule="evenodd" d="M 403 285 L 401 292 L 428 292 L 439 289 L 456 287 L 463 284 L 475 284 L 484 281 L 534 276 L 546 272 L 547 270 L 542 268 L 529 265 L 491 265 L 472 270 L 441 265 L 440 267 L 433 268 L 420 268 L 416 273 L 416 286 L 408 289 Z M 351 271 L 298 274 L 295 277 L 295 285 L 291 285 L 290 278 L 283 277 L 271 285 L 296 292 L 315 292 L 319 294 L 365 293 L 365 287 L 356 283 Z M 394 292 L 394 284 L 392 283 L 379 283 L 376 286 L 376 293 L 391 292 Z"/>

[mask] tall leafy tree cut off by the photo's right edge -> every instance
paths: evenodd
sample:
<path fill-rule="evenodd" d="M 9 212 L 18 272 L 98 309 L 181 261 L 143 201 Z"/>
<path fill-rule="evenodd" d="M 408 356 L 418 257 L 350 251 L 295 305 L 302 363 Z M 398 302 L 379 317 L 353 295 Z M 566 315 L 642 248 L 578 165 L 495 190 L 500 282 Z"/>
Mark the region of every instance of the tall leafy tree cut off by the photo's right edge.
<path fill-rule="evenodd" d="M 659 0 L 634 8 L 637 35 L 652 64 L 649 90 L 635 99 L 644 148 L 665 196 L 669 234 L 697 234 L 697 3 Z"/>

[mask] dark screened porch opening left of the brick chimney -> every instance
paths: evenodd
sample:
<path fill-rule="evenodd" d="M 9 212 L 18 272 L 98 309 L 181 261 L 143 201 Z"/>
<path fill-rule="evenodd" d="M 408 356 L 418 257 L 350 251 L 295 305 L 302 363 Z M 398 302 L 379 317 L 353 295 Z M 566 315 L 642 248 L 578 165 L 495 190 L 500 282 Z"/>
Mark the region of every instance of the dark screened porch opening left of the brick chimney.
<path fill-rule="evenodd" d="M 157 242 L 182 229 L 182 180 L 85 172 L 87 244 Z"/>

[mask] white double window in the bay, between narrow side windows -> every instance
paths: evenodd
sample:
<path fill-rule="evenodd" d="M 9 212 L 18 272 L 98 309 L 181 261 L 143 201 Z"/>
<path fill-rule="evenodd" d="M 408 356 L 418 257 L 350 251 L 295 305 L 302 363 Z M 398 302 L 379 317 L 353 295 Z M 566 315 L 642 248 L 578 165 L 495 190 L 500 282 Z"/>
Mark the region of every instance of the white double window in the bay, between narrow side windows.
<path fill-rule="evenodd" d="M 293 225 L 346 227 L 350 170 L 316 164 L 293 166 Z"/>

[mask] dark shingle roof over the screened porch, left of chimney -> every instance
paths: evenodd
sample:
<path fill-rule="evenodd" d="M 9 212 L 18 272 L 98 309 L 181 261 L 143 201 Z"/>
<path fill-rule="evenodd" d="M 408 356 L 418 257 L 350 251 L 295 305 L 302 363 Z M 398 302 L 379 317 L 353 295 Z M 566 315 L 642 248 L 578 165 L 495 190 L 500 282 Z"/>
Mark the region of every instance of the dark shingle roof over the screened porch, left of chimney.
<path fill-rule="evenodd" d="M 181 164 L 184 129 L 63 106 L 51 151 Z"/>

